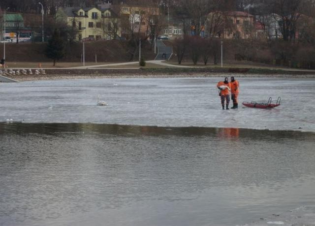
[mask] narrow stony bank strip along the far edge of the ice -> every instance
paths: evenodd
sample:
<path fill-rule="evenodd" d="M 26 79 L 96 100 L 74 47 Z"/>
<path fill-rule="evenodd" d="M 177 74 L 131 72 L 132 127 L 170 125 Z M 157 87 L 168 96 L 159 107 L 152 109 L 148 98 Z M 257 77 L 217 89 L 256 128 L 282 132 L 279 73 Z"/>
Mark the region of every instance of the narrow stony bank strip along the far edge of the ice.
<path fill-rule="evenodd" d="M 235 75 L 238 78 L 315 78 L 315 71 L 284 71 L 246 68 L 140 68 L 140 69 L 45 69 L 46 74 L 10 75 L 20 82 L 60 79 L 102 78 L 211 78 Z"/>

